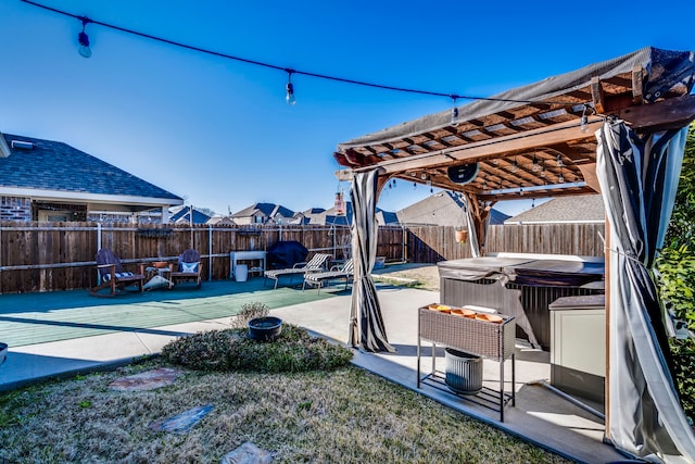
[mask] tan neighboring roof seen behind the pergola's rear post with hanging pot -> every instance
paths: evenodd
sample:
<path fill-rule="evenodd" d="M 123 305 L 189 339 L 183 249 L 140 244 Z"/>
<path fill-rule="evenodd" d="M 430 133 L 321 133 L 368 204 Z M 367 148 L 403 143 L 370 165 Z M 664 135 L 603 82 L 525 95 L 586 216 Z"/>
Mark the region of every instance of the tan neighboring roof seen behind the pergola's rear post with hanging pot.
<path fill-rule="evenodd" d="M 396 212 L 396 215 L 401 224 L 467 228 L 464 202 L 457 193 L 451 191 L 431 195 Z M 490 212 L 490 224 L 503 224 L 508 217 L 493 209 Z"/>

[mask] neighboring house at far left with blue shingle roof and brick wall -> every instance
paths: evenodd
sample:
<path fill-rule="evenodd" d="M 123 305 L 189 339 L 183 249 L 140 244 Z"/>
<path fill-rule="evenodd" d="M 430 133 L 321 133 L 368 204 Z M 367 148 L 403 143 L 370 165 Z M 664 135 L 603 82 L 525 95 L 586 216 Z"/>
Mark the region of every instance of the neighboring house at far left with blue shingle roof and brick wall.
<path fill-rule="evenodd" d="M 184 199 L 66 143 L 0 133 L 0 218 L 168 222 Z"/>

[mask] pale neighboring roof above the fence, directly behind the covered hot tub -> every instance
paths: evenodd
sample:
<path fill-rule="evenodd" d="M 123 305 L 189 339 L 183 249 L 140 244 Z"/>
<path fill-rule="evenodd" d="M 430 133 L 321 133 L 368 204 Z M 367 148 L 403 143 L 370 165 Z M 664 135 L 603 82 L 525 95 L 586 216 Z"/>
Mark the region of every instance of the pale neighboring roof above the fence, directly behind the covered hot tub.
<path fill-rule="evenodd" d="M 517 214 L 505 224 L 604 224 L 606 210 L 599 195 L 556 197 L 531 210 Z"/>

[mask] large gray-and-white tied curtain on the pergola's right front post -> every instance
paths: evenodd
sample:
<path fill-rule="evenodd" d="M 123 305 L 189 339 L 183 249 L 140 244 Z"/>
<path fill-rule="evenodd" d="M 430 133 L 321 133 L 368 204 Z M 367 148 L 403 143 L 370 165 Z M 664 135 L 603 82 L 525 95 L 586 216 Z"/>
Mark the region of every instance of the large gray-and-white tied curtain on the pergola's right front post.
<path fill-rule="evenodd" d="M 596 133 L 610 227 L 609 434 L 655 462 L 695 462 L 695 437 L 669 372 L 652 266 L 673 209 L 687 128 L 640 138 L 622 121 Z"/>

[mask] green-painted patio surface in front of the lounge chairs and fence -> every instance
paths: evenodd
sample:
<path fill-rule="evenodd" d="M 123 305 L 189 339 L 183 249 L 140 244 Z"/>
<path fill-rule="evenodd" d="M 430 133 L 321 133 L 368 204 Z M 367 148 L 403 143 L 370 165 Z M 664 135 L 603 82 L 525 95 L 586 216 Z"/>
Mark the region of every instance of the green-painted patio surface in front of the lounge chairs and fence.
<path fill-rule="evenodd" d="M 205 281 L 200 290 L 180 284 L 173 290 L 125 291 L 97 298 L 87 290 L 0 296 L 0 341 L 10 347 L 136 331 L 175 324 L 233 316 L 242 305 L 261 302 L 269 309 L 331 298 L 342 286 L 302 291 L 264 286 L 263 278 L 244 283 Z"/>

